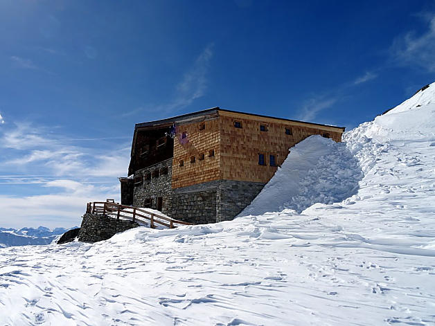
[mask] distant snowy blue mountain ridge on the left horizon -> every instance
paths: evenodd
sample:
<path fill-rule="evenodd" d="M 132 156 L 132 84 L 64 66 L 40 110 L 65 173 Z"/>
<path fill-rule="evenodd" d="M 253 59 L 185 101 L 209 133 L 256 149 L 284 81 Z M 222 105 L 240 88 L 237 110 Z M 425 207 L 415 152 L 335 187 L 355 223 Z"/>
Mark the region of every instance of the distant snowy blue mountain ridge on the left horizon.
<path fill-rule="evenodd" d="M 76 227 L 73 227 L 76 228 Z M 63 235 L 71 228 L 0 228 L 0 248 L 8 246 L 28 246 L 37 244 L 51 244 L 53 240 Z"/>

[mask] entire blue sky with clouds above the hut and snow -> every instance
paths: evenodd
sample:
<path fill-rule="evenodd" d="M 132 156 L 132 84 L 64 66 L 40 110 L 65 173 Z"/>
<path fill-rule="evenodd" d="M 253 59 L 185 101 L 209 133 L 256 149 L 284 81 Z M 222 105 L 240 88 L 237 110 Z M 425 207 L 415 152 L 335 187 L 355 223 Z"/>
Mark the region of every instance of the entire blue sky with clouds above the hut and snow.
<path fill-rule="evenodd" d="M 219 106 L 347 127 L 435 81 L 435 1 L 0 2 L 0 226 L 118 199 L 135 123 Z"/>

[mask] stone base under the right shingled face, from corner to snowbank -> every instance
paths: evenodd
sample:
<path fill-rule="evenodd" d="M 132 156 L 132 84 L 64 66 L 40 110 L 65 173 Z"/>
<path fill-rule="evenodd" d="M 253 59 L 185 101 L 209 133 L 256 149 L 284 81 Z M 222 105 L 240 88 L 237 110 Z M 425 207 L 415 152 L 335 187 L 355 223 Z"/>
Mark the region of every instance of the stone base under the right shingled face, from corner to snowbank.
<path fill-rule="evenodd" d="M 234 219 L 264 186 L 260 182 L 221 180 L 217 189 L 216 222 Z"/>

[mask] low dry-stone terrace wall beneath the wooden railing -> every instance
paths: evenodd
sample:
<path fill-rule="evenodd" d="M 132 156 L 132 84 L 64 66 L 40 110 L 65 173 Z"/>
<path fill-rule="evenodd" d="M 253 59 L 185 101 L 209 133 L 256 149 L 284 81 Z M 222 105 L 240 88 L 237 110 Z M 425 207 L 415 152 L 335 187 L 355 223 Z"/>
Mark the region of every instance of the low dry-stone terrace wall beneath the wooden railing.
<path fill-rule="evenodd" d="M 82 226 L 78 233 L 78 241 L 98 242 L 107 240 L 116 235 L 116 233 L 136 228 L 136 226 L 139 226 L 139 224 L 132 221 L 86 213 L 83 215 Z"/>

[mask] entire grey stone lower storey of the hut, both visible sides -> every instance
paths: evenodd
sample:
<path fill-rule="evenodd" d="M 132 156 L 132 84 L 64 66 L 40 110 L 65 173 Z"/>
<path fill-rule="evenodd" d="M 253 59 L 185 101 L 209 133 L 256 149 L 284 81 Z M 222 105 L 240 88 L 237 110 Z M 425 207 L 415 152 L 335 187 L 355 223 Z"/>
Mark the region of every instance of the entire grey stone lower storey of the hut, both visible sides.
<path fill-rule="evenodd" d="M 159 172 L 159 176 L 155 175 Z M 165 174 L 161 174 L 165 171 Z M 150 177 L 149 177 L 150 176 Z M 127 182 L 121 180 L 121 198 L 129 195 Z M 136 171 L 132 205 L 159 209 L 173 219 L 193 224 L 229 221 L 251 203 L 265 183 L 217 180 L 172 189 L 172 159 Z M 124 188 L 122 188 L 124 185 Z"/>

